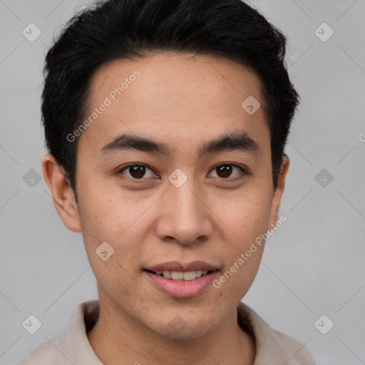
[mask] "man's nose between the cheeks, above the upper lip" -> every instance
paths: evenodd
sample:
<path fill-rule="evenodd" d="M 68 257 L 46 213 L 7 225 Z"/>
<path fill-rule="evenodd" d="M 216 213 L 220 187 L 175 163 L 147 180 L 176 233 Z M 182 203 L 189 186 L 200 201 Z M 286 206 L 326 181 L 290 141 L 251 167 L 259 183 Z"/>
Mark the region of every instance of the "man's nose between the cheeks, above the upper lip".
<path fill-rule="evenodd" d="M 168 183 L 159 204 L 155 232 L 160 240 L 191 245 L 212 235 L 212 212 L 192 178 L 180 187 Z"/>

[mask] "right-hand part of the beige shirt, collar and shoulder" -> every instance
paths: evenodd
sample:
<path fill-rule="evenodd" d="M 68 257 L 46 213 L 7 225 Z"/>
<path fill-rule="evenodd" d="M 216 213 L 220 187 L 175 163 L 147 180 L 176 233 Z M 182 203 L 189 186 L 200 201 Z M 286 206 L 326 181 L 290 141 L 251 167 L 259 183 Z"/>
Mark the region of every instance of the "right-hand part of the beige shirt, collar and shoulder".
<path fill-rule="evenodd" d="M 247 304 L 240 302 L 237 313 L 242 329 L 255 338 L 254 365 L 314 365 L 312 357 L 301 342 L 272 329 Z"/>

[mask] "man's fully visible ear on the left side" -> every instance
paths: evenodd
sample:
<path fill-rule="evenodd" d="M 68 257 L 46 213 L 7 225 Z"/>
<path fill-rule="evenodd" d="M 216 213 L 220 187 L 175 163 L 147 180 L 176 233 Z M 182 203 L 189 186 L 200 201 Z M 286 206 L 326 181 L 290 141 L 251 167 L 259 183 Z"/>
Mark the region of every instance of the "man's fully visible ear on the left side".
<path fill-rule="evenodd" d="M 53 205 L 66 227 L 74 232 L 81 232 L 80 220 L 75 195 L 65 178 L 64 169 L 58 165 L 51 153 L 42 158 L 43 178 L 51 190 Z"/>

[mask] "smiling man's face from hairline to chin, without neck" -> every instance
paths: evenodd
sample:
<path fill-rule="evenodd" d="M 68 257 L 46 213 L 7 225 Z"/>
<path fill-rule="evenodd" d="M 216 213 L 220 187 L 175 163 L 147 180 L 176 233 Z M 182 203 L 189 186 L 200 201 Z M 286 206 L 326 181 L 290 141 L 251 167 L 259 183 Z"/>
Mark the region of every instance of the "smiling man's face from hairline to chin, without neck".
<path fill-rule="evenodd" d="M 110 105 L 81 134 L 76 169 L 76 220 L 101 302 L 138 326 L 180 338 L 206 334 L 235 312 L 264 245 L 238 268 L 237 262 L 276 222 L 281 197 L 272 185 L 259 79 L 237 63 L 191 56 L 157 53 L 101 67 L 88 115 L 108 105 L 106 98 Z M 136 69 L 139 76 L 130 77 Z M 128 87 L 113 93 L 125 78 Z M 249 96 L 261 103 L 253 114 L 241 106 Z M 122 148 L 115 138 L 127 134 L 165 150 Z M 210 141 L 244 134 L 254 142 L 199 154 Z M 114 250 L 105 261 L 108 245 L 108 253 L 96 253 L 102 242 Z M 194 269 L 208 272 L 192 279 L 202 274 Z M 184 282 L 181 271 L 190 272 Z"/>

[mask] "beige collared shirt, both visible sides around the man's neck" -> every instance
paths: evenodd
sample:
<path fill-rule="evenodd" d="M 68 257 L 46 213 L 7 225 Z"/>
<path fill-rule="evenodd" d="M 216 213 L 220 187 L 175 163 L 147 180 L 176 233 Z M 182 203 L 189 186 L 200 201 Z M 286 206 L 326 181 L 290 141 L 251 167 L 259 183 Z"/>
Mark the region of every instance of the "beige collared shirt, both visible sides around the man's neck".
<path fill-rule="evenodd" d="M 307 349 L 292 337 L 275 331 L 246 304 L 237 307 L 238 323 L 255 337 L 254 365 L 314 365 Z M 103 365 L 86 332 L 98 320 L 99 302 L 78 304 L 73 320 L 65 331 L 39 346 L 17 365 Z"/>

